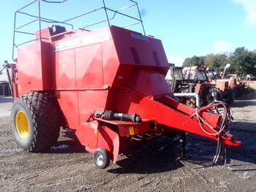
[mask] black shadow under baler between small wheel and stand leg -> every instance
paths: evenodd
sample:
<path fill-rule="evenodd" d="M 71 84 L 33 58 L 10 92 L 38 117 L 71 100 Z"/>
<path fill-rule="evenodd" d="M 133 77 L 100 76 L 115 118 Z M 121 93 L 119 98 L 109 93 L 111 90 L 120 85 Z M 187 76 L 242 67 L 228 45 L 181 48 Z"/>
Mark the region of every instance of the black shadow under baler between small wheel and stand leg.
<path fill-rule="evenodd" d="M 184 165 L 176 161 L 178 155 L 176 144 L 176 140 L 169 137 L 159 137 L 146 142 L 136 147 L 128 158 L 117 161 L 116 164 L 121 166 L 120 168 L 110 169 L 108 172 L 150 174 L 178 169 Z"/>

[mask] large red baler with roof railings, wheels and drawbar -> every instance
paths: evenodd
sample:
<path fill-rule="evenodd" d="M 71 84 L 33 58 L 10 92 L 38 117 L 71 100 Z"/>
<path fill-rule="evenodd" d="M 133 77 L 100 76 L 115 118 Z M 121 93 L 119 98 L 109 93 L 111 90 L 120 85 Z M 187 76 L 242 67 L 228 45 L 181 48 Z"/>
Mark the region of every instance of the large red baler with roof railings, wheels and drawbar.
<path fill-rule="evenodd" d="M 138 11 L 135 1 L 110 9 L 102 0 L 102 7 L 61 21 L 42 18 L 40 9 L 36 15 L 25 12 L 32 4 L 40 8 L 67 2 L 35 0 L 15 12 L 13 48 L 18 58 L 14 54 L 16 63 L 11 66 L 15 99 L 11 120 L 20 147 L 41 152 L 55 145 L 61 126 L 69 127 L 93 153 L 94 164 L 104 169 L 135 143 L 165 134 L 184 136 L 189 131 L 217 140 L 215 161 L 223 145 L 241 145 L 228 130 L 227 104 L 216 101 L 195 109 L 173 96 L 165 80 L 169 64 L 162 42 L 145 34 L 139 12 L 138 18 L 122 12 Z M 72 29 L 72 21 L 97 11 L 106 18 Z M 18 15 L 33 20 L 18 24 Z M 111 25 L 115 15 L 135 20 L 143 33 Z M 22 31 L 33 22 L 39 23 L 35 33 Z M 43 23 L 61 26 L 41 28 Z M 98 23 L 107 27 L 89 29 Z M 33 38 L 17 44 L 20 33 Z M 211 110 L 217 107 L 224 113 Z"/>

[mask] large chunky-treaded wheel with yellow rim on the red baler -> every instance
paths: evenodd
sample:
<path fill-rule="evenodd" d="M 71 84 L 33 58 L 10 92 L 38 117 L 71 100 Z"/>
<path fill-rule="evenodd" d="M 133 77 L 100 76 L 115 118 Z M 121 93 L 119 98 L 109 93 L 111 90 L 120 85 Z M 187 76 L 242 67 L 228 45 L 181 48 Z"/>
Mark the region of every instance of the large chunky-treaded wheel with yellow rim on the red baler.
<path fill-rule="evenodd" d="M 15 99 L 11 120 L 18 146 L 29 152 L 42 152 L 54 145 L 60 131 L 58 112 L 50 93 L 31 92 Z M 25 123 L 20 124 L 20 117 Z M 23 127 L 27 127 L 27 131 Z M 22 134 L 23 130 L 26 134 Z"/>

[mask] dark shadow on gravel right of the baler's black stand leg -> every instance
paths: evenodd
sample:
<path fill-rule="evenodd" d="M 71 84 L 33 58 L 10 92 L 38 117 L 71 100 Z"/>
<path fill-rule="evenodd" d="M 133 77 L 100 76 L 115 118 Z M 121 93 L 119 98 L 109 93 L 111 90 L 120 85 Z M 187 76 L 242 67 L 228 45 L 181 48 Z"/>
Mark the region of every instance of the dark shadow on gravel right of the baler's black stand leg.
<path fill-rule="evenodd" d="M 254 131 L 254 129 L 256 130 L 256 123 L 241 122 L 241 125 L 243 125 L 244 128 L 231 128 L 231 130 L 235 135 L 235 139 L 241 140 L 243 144 L 241 146 L 229 146 L 227 148 L 226 166 L 245 166 L 249 164 L 256 164 L 256 142 L 254 139 L 255 137 L 253 137 L 253 134 L 256 134 Z M 211 166 L 223 166 L 225 164 L 225 153 L 222 153 L 217 164 L 214 164 L 213 159 L 217 150 L 217 142 L 212 139 L 201 137 L 196 134 L 187 134 L 186 150 L 187 159 L 180 161 L 182 164 L 185 164 L 185 166 L 186 162 L 201 166 L 195 169 L 203 169 Z M 241 165 L 230 165 L 233 160 L 249 164 L 243 163 Z M 243 171 L 255 170 L 243 169 Z"/>

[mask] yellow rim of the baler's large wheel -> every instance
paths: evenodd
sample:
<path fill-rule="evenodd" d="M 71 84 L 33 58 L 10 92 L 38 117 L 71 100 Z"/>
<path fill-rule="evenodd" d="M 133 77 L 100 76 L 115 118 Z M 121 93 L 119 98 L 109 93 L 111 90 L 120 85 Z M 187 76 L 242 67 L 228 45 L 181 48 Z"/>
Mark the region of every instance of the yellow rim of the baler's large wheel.
<path fill-rule="evenodd" d="M 26 139 L 29 136 L 29 120 L 26 117 L 25 112 L 18 111 L 15 118 L 16 129 L 18 135 L 22 139 Z"/>

